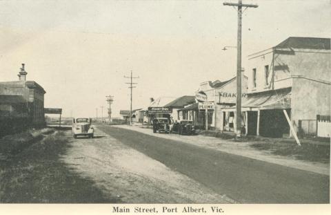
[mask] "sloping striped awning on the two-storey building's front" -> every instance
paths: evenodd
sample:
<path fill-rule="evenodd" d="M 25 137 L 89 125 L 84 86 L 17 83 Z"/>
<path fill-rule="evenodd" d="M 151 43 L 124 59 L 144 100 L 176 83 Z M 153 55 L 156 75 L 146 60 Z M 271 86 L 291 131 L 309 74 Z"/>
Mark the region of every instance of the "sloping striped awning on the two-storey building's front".
<path fill-rule="evenodd" d="M 291 108 L 291 88 L 283 88 L 276 91 L 265 91 L 261 93 L 251 93 L 248 98 L 241 103 L 243 109 L 290 109 Z M 235 109 L 232 106 L 229 109 Z"/>

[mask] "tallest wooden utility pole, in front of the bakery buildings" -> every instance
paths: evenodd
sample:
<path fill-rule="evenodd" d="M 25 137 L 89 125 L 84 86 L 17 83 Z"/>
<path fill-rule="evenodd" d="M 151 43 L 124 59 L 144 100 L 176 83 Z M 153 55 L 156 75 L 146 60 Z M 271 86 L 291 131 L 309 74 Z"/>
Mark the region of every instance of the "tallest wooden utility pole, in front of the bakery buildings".
<path fill-rule="evenodd" d="M 257 8 L 257 5 L 238 3 L 223 3 L 223 6 L 238 7 L 238 34 L 237 34 L 237 137 L 241 137 L 241 15 L 243 8 Z M 247 125 L 246 125 L 247 126 Z"/>

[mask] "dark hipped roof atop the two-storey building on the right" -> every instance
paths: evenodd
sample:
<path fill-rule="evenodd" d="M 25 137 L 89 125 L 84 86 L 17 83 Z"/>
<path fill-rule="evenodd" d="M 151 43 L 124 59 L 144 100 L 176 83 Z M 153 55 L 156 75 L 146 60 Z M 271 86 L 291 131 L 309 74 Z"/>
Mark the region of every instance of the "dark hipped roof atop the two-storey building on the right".
<path fill-rule="evenodd" d="M 276 48 L 308 48 L 330 50 L 330 38 L 317 37 L 288 37 Z"/>

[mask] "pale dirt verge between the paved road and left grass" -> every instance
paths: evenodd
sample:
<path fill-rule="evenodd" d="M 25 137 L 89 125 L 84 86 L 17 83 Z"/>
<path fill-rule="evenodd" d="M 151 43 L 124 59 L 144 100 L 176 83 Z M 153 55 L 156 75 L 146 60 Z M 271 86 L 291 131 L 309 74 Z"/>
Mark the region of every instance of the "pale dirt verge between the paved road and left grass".
<path fill-rule="evenodd" d="M 98 129 L 94 135 L 72 139 L 61 160 L 106 196 L 123 203 L 234 203 Z"/>

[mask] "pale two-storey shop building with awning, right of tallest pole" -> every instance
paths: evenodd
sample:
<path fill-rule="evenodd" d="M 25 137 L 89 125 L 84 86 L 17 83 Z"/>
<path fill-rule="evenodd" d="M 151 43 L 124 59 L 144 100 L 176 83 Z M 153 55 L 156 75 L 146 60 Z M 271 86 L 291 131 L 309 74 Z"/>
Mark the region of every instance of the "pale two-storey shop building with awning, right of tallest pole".
<path fill-rule="evenodd" d="M 330 58 L 330 39 L 308 37 L 289 37 L 250 55 L 244 133 L 316 135 L 317 115 L 330 115 Z M 310 125 L 304 127 L 305 122 Z"/>

